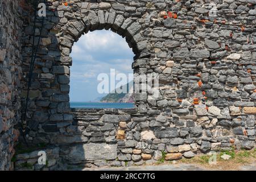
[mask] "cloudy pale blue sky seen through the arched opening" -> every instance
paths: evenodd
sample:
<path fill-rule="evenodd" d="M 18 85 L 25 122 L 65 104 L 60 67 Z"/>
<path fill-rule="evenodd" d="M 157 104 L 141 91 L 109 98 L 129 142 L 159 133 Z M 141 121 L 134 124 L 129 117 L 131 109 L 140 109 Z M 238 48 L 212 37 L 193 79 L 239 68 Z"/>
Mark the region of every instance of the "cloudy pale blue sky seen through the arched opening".
<path fill-rule="evenodd" d="M 70 101 L 94 101 L 106 94 L 98 93 L 100 73 L 133 73 L 134 53 L 122 36 L 110 30 L 96 30 L 82 35 L 72 47 Z M 126 82 L 130 80 L 127 79 Z M 116 83 L 118 81 L 115 81 Z M 110 90 L 110 88 L 109 88 Z"/>

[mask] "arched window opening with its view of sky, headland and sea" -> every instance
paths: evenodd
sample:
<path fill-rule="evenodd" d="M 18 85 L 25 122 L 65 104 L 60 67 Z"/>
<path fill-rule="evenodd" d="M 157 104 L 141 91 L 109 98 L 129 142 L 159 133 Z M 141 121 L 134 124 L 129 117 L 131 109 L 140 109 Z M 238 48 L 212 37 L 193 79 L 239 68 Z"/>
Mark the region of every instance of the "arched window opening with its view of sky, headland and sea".
<path fill-rule="evenodd" d="M 71 108 L 134 107 L 134 53 L 126 40 L 112 31 L 82 35 L 72 47 Z"/>

